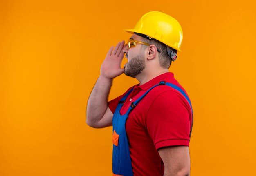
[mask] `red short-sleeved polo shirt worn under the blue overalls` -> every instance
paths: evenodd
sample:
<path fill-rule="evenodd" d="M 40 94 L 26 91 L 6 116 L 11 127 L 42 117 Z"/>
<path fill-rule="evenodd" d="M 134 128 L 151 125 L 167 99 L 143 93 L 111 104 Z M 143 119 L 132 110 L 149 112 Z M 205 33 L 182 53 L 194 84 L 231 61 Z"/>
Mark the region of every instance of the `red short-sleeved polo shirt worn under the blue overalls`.
<path fill-rule="evenodd" d="M 173 73 L 161 74 L 143 85 L 135 85 L 120 113 L 125 114 L 132 102 L 160 81 L 183 87 Z M 117 103 L 130 90 L 108 102 L 114 114 Z M 189 146 L 192 112 L 189 102 L 177 90 L 167 85 L 153 88 L 131 111 L 126 121 L 132 171 L 134 176 L 162 176 L 164 165 L 159 156 L 161 147 Z"/>

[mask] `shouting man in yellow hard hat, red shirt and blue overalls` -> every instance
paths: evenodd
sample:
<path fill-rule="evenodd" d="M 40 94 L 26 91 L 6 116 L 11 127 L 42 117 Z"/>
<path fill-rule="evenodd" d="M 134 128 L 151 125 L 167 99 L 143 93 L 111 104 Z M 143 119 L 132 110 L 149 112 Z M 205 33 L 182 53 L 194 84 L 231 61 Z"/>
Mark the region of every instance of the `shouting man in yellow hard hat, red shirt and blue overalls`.
<path fill-rule="evenodd" d="M 193 111 L 168 71 L 182 43 L 180 24 L 161 12 L 146 13 L 128 44 L 110 47 L 87 105 L 89 126 L 113 125 L 113 176 L 188 176 Z M 126 55 L 128 62 L 121 68 Z M 138 85 L 108 102 L 112 79 L 125 73 Z"/>

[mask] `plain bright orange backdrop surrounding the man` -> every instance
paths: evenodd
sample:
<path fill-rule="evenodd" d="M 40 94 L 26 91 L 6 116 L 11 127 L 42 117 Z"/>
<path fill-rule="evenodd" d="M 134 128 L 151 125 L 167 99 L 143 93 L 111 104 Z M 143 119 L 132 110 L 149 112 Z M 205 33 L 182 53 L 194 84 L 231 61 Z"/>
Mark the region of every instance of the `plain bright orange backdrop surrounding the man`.
<path fill-rule="evenodd" d="M 253 175 L 255 9 L 254 0 L 1 0 L 0 176 L 112 175 L 112 128 L 88 127 L 86 104 L 110 46 L 148 11 L 183 29 L 170 71 L 192 100 L 191 176 Z M 115 78 L 110 99 L 134 84 Z"/>

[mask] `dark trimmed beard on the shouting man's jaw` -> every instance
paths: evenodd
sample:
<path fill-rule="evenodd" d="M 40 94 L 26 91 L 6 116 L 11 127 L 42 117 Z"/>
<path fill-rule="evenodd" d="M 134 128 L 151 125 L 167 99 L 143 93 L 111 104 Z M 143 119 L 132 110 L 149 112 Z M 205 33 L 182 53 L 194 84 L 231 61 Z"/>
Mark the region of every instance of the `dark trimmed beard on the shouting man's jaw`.
<path fill-rule="evenodd" d="M 145 61 L 141 55 L 132 58 L 132 60 L 128 63 L 124 68 L 124 74 L 135 78 L 141 71 L 145 68 Z"/>

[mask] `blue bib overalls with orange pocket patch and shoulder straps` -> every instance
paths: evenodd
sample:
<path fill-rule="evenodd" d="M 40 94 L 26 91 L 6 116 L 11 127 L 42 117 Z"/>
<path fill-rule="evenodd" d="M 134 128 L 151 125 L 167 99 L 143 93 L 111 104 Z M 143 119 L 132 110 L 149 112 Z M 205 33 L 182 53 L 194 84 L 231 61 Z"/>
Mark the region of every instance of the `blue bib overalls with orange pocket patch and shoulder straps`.
<path fill-rule="evenodd" d="M 179 91 L 186 98 L 186 100 L 188 100 L 189 105 L 191 107 L 191 111 L 192 111 L 192 125 L 191 125 L 191 129 L 190 129 L 189 137 L 191 136 L 192 126 L 193 126 L 193 110 L 192 110 L 192 106 L 191 106 L 189 97 L 186 95 L 186 93 L 182 89 L 180 89 L 180 87 L 178 87 L 174 84 L 165 82 L 165 81 L 161 81 L 159 84 L 154 85 L 148 91 L 146 91 L 146 93 L 144 93 L 141 97 L 139 97 L 135 102 L 132 102 L 131 106 L 126 111 L 126 114 L 121 115 L 120 109 L 123 106 L 128 95 L 132 92 L 132 90 L 133 90 L 133 88 L 132 88 L 119 101 L 117 108 L 114 112 L 113 120 L 112 120 L 112 125 L 113 125 L 113 155 L 112 155 L 113 176 L 133 176 L 129 145 L 128 145 L 126 129 L 125 129 L 126 119 L 128 118 L 128 115 L 130 114 L 132 109 L 134 109 L 137 106 L 137 104 L 142 100 L 142 98 L 144 98 L 144 96 L 146 96 L 146 94 L 148 94 L 148 92 L 150 90 L 152 90 L 154 87 L 159 86 L 159 85 L 171 86 L 173 89 L 176 89 L 177 91 Z"/>

